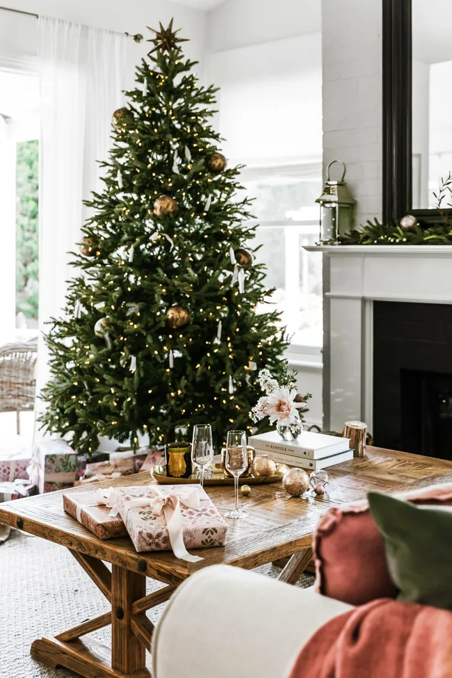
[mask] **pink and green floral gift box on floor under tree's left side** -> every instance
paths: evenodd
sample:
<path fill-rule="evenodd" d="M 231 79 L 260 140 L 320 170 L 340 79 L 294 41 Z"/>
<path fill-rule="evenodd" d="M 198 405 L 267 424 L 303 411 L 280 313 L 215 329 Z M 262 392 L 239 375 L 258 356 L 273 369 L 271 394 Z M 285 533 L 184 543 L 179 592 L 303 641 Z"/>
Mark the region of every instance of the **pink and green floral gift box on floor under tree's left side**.
<path fill-rule="evenodd" d="M 78 455 L 67 442 L 46 440 L 38 444 L 28 471 L 42 493 L 72 487 L 78 467 Z"/>

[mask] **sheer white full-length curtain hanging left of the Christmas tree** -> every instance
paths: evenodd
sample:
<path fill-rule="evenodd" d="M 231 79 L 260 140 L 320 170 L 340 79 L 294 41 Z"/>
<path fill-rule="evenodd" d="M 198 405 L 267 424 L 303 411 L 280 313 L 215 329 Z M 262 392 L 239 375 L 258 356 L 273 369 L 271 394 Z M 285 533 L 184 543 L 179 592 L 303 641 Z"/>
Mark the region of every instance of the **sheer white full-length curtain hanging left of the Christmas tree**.
<path fill-rule="evenodd" d="M 68 252 L 81 239 L 82 201 L 98 191 L 111 146 L 111 115 L 123 105 L 127 38 L 120 33 L 38 19 L 40 130 L 40 329 L 65 304 L 74 276 Z M 48 378 L 43 341 L 38 348 L 37 393 Z M 38 399 L 36 409 L 42 410 Z"/>

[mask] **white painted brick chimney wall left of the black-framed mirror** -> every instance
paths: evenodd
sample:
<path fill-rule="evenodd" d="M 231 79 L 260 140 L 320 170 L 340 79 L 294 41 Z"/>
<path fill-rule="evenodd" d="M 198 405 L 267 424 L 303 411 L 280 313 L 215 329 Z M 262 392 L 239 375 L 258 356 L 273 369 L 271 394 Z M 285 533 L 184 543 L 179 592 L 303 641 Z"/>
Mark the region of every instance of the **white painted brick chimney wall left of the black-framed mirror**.
<path fill-rule="evenodd" d="M 381 0 L 323 0 L 323 167 L 346 163 L 355 225 L 382 211 L 381 40 Z"/>

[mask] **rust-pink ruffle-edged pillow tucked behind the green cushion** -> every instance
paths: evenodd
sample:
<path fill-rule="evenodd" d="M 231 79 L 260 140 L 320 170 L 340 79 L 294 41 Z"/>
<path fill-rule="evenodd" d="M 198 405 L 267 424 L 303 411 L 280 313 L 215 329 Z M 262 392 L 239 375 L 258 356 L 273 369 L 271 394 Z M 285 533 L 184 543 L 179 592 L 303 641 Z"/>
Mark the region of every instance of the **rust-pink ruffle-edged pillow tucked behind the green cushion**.
<path fill-rule="evenodd" d="M 396 494 L 414 503 L 452 505 L 452 483 Z M 350 605 L 396 597 L 385 548 L 366 500 L 332 508 L 314 538 L 316 590 Z"/>

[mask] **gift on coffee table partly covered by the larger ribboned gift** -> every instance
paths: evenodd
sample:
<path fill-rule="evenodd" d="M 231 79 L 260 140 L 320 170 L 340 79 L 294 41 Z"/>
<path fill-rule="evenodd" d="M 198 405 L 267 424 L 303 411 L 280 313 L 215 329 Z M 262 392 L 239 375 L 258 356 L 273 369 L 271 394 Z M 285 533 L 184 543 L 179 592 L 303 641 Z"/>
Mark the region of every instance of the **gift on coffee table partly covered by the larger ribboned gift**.
<path fill-rule="evenodd" d="M 108 515 L 110 509 L 99 506 L 95 497 L 95 490 L 67 492 L 63 494 L 63 508 L 99 539 L 127 536 L 122 519 Z"/>

